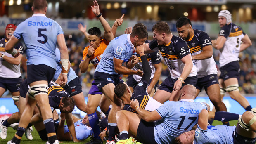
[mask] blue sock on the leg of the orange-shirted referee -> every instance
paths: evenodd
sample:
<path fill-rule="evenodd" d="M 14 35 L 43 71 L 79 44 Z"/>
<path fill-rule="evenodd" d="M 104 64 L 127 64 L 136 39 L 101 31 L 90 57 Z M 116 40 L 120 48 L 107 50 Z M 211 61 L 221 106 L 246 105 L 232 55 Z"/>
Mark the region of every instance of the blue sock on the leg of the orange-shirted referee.
<path fill-rule="evenodd" d="M 88 120 L 89 120 L 89 123 L 92 127 L 92 132 L 93 132 L 93 135 L 95 138 L 97 139 L 100 139 L 99 135 L 100 135 L 100 127 L 99 127 L 99 118 L 95 113 L 92 113 L 92 114 L 88 114 Z"/>

